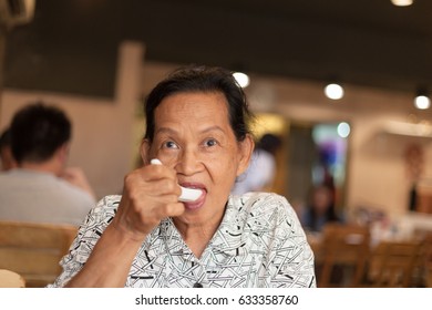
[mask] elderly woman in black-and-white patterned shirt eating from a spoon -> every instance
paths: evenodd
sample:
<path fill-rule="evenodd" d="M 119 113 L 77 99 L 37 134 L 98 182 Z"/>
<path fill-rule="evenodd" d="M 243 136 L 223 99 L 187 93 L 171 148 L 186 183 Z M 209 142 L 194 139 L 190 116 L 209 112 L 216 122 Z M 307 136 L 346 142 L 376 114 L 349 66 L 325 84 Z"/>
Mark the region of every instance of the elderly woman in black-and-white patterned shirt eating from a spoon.
<path fill-rule="evenodd" d="M 174 72 L 145 115 L 144 166 L 89 214 L 52 287 L 315 287 L 313 254 L 288 202 L 229 195 L 254 149 L 230 72 Z M 179 202 L 181 186 L 199 197 Z"/>

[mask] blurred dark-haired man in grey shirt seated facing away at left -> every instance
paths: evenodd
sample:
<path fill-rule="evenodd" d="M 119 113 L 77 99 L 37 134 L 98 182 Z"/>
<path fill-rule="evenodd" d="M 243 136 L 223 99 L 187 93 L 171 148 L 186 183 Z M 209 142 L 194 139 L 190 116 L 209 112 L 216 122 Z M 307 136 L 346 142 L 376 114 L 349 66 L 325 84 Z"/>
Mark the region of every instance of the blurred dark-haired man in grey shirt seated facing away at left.
<path fill-rule="evenodd" d="M 0 174 L 0 219 L 80 225 L 95 205 L 80 168 L 66 168 L 71 122 L 43 103 L 18 111 L 10 125 L 17 167 Z"/>

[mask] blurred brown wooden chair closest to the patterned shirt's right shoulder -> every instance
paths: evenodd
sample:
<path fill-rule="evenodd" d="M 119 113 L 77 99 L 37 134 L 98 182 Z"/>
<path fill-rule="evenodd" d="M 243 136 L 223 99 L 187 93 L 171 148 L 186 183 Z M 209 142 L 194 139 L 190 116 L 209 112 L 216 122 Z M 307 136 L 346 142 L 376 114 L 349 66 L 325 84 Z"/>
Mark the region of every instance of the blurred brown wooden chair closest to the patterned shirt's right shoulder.
<path fill-rule="evenodd" d="M 321 265 L 317 273 L 318 287 L 360 286 L 370 248 L 369 228 L 358 225 L 327 224 L 320 249 Z M 335 283 L 332 275 L 341 272 Z"/>

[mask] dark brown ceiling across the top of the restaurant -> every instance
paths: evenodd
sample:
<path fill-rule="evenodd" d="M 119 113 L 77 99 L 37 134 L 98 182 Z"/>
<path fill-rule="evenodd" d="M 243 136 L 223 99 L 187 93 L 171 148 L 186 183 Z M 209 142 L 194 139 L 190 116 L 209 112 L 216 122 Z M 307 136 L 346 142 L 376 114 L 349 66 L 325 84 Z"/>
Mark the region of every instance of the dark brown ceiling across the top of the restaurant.
<path fill-rule="evenodd" d="M 430 0 L 37 0 L 8 33 L 4 84 L 112 96 L 123 40 L 145 43 L 146 61 L 432 87 Z"/>

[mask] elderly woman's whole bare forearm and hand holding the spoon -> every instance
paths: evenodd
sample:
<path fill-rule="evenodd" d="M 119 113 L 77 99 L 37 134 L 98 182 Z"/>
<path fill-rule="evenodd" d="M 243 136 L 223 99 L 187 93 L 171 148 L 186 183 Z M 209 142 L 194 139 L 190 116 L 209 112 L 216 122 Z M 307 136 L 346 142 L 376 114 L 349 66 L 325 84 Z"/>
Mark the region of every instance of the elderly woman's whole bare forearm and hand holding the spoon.
<path fill-rule="evenodd" d="M 125 177 L 122 200 L 81 271 L 68 287 L 124 287 L 144 238 L 163 218 L 178 216 L 181 187 L 175 170 L 148 165 Z"/>

